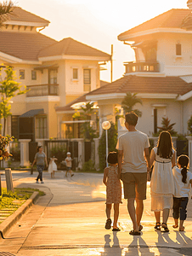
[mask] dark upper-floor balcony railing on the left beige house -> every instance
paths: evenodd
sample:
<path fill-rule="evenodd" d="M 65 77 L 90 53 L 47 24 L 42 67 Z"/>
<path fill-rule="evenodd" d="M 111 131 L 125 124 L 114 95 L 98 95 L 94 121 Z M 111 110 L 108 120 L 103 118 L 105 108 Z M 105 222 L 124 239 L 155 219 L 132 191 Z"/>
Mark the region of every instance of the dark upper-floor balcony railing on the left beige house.
<path fill-rule="evenodd" d="M 59 96 L 59 84 L 37 84 L 26 86 L 27 97 L 35 96 Z"/>

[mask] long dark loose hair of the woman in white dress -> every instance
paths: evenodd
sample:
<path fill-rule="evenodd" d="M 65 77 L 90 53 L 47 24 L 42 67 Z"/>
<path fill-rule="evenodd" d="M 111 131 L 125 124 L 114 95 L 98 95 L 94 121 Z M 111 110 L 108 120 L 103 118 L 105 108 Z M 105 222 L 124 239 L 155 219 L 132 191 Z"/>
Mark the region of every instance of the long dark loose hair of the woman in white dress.
<path fill-rule="evenodd" d="M 157 143 L 157 154 L 161 158 L 172 158 L 172 137 L 168 131 L 161 131 L 158 143 Z"/>

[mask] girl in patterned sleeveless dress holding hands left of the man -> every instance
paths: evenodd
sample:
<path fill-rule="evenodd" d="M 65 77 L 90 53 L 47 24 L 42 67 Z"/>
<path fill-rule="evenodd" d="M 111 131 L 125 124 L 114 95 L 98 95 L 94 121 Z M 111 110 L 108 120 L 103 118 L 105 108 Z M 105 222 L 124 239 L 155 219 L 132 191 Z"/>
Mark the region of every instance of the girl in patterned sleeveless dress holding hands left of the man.
<path fill-rule="evenodd" d="M 106 185 L 106 224 L 105 229 L 110 230 L 111 228 L 111 219 L 110 211 L 111 206 L 114 204 L 114 222 L 112 231 L 120 231 L 117 227 L 117 220 L 119 217 L 119 204 L 121 203 L 121 182 L 118 178 L 118 159 L 116 152 L 110 152 L 107 158 L 110 167 L 104 169 L 104 179 L 103 183 Z"/>

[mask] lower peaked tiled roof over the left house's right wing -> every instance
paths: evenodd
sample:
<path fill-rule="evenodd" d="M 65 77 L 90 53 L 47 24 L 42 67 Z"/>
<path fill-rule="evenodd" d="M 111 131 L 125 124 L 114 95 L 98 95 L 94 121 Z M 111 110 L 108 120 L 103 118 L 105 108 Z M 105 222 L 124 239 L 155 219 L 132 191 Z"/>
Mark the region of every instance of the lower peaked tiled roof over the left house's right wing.
<path fill-rule="evenodd" d="M 87 44 L 82 44 L 73 38 L 64 38 L 46 49 L 42 49 L 39 57 L 54 55 L 83 55 L 110 58 L 110 55 L 104 53 L 103 51 L 90 47 Z"/>

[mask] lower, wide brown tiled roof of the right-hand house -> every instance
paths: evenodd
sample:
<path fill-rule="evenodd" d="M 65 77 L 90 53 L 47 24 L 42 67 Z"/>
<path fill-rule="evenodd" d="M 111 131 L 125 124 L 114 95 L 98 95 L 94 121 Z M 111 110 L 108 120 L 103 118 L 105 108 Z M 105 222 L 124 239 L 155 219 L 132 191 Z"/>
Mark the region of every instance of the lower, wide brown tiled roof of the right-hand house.
<path fill-rule="evenodd" d="M 88 96 L 108 95 L 109 93 L 160 93 L 184 95 L 192 90 L 192 83 L 188 84 L 179 77 L 138 77 L 125 76 L 111 84 L 88 93 Z"/>

